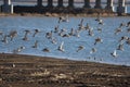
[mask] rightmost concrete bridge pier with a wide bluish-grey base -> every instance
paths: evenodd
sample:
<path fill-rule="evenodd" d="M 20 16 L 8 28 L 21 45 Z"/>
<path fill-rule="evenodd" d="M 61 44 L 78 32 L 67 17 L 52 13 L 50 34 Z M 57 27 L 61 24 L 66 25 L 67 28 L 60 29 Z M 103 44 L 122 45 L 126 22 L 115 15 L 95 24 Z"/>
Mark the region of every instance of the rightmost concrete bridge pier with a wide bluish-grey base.
<path fill-rule="evenodd" d="M 118 0 L 117 13 L 127 13 L 127 7 L 125 5 L 125 0 Z"/>

